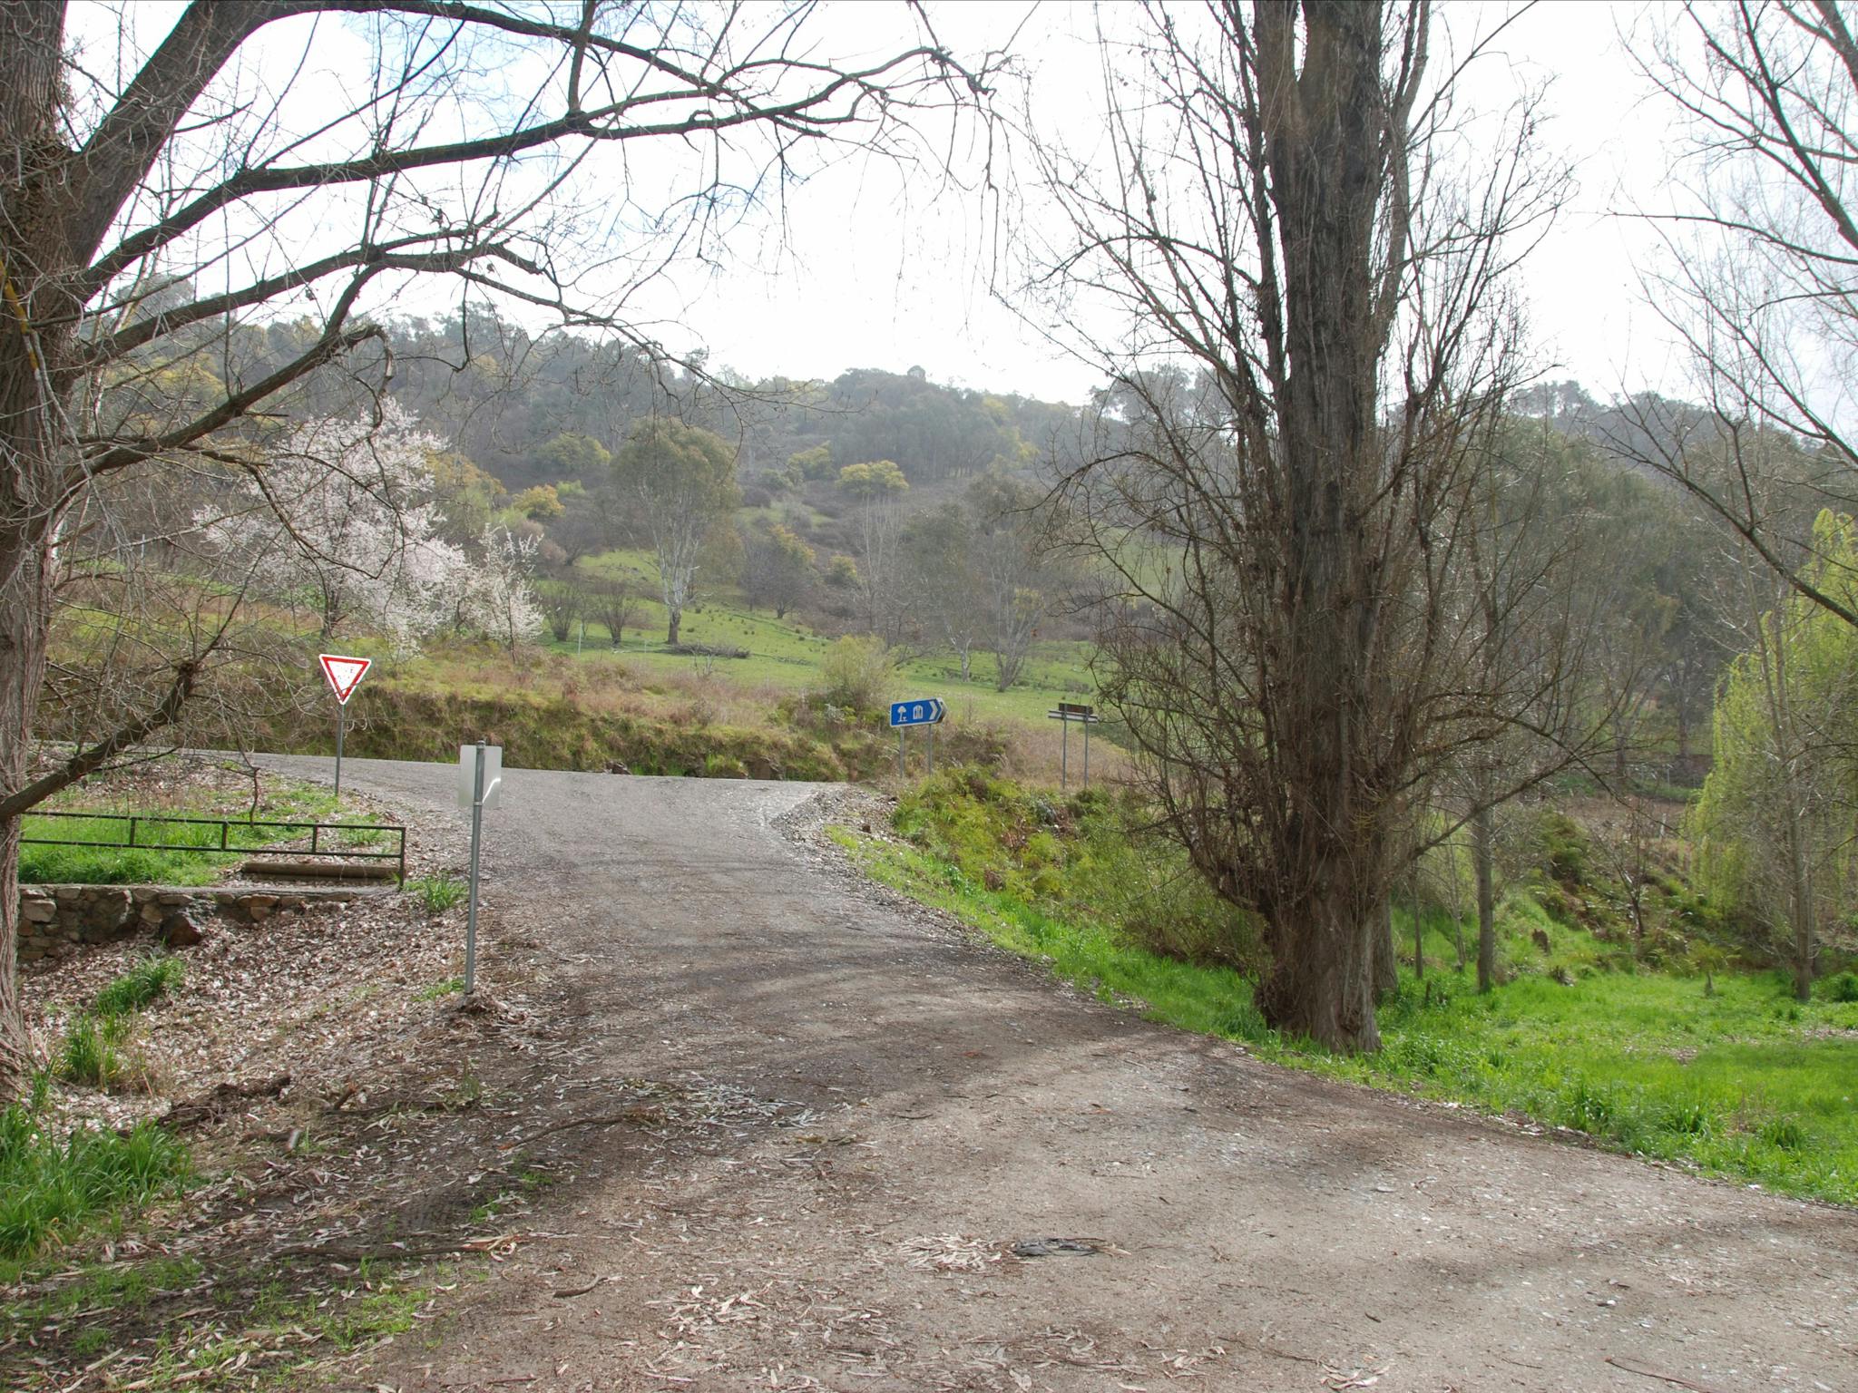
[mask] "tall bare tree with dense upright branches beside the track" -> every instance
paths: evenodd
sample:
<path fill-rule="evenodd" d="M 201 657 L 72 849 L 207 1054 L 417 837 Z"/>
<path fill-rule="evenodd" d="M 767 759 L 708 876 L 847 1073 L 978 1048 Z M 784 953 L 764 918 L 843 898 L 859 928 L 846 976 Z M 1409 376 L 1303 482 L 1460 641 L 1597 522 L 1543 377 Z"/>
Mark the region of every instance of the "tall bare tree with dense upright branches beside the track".
<path fill-rule="evenodd" d="M 1076 232 L 1053 275 L 1132 327 L 1089 347 L 1133 409 L 1063 488 L 1120 579 L 1106 696 L 1174 836 L 1267 925 L 1265 1020 L 1373 1049 L 1403 801 L 1505 719 L 1451 596 L 1514 386 L 1501 282 L 1563 184 L 1527 113 L 1444 178 L 1470 160 L 1423 0 L 1143 20 L 1106 52 L 1107 160 L 1040 147 Z"/>

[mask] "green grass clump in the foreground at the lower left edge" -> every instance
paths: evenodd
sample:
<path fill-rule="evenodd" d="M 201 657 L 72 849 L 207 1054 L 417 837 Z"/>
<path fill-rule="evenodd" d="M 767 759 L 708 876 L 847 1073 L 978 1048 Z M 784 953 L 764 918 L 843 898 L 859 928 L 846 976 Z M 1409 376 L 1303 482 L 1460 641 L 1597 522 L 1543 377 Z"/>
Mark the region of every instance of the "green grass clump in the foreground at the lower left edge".
<path fill-rule="evenodd" d="M 0 1276 L 48 1243 L 117 1209 L 173 1191 L 188 1153 L 149 1124 L 126 1135 L 78 1127 L 54 1137 L 46 1088 L 0 1111 Z"/>

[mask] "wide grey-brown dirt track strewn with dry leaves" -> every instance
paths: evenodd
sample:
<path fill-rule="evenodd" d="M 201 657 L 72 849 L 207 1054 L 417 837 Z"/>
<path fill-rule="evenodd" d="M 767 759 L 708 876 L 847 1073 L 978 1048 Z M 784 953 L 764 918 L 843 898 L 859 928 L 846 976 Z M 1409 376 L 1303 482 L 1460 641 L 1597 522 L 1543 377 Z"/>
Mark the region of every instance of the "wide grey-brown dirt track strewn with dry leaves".
<path fill-rule="evenodd" d="M 459 815 L 451 767 L 346 776 Z M 487 927 L 602 1122 L 359 1386 L 1858 1389 L 1858 1215 L 1079 999 L 851 875 L 818 788 L 505 780 Z"/>

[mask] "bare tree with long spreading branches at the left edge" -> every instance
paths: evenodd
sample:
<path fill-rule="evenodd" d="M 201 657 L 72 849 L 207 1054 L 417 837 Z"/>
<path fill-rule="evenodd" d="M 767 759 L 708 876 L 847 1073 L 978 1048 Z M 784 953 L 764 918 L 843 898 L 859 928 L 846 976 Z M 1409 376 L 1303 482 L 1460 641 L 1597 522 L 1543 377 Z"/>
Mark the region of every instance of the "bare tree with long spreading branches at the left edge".
<path fill-rule="evenodd" d="M 933 41 L 834 65 L 808 4 L 557 13 L 126 7 L 119 61 L 82 63 L 65 6 L 0 4 L 0 1085 L 26 1059 L 17 840 L 59 542 L 97 481 L 262 468 L 256 414 L 288 410 L 312 373 L 362 364 L 368 388 L 386 384 L 368 312 L 420 277 L 650 347 L 621 318 L 628 299 L 717 256 L 808 147 L 910 158 L 907 119 L 983 91 Z M 366 45 L 372 71 L 310 98 L 295 78 L 331 30 Z M 604 162 L 606 145 L 628 158 Z M 671 158 L 647 158 L 658 147 Z M 243 351 L 232 329 L 284 303 L 307 332 Z"/>

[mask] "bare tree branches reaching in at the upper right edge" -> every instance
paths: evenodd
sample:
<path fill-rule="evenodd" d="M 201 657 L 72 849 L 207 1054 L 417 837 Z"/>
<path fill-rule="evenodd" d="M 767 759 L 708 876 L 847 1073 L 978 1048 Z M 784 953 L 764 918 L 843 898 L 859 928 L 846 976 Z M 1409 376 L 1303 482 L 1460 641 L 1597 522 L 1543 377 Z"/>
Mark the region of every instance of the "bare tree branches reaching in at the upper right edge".
<path fill-rule="evenodd" d="M 1687 191 L 1668 214 L 1654 305 L 1689 347 L 1704 410 L 1624 403 L 1616 446 L 1683 485 L 1761 565 L 1858 624 L 1821 585 L 1812 531 L 1763 511 L 1763 436 L 1804 444 L 1795 488 L 1858 507 L 1851 364 L 1858 353 L 1858 39 L 1841 0 L 1685 4 L 1637 43 L 1646 76 L 1689 119 Z M 1698 54 L 1702 61 L 1698 59 Z M 1808 513 L 1810 516 L 1810 513 Z"/>

